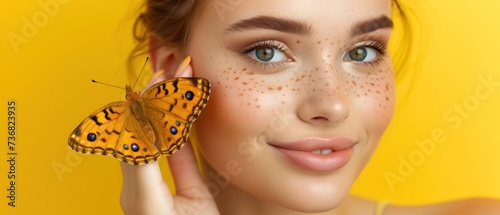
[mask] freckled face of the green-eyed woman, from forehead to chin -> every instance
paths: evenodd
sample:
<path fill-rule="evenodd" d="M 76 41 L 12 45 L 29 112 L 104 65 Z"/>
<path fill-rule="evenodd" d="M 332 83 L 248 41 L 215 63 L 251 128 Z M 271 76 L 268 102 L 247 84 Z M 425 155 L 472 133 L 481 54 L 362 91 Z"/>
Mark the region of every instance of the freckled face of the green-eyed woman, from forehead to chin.
<path fill-rule="evenodd" d="M 203 158 L 259 199 L 336 207 L 393 113 L 391 29 L 390 0 L 206 2 L 187 49 L 212 84 Z"/>

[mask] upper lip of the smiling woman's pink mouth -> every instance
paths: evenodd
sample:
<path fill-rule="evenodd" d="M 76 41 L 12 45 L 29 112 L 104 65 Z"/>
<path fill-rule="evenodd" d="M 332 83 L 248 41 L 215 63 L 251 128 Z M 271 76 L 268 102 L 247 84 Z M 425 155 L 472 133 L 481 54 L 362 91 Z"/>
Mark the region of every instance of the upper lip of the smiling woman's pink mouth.
<path fill-rule="evenodd" d="M 333 151 L 340 151 L 351 148 L 355 144 L 356 141 L 349 139 L 347 137 L 333 137 L 328 139 L 309 137 L 299 141 L 286 142 L 286 143 L 272 143 L 270 145 L 282 149 L 312 152 L 321 149 L 331 149 Z"/>

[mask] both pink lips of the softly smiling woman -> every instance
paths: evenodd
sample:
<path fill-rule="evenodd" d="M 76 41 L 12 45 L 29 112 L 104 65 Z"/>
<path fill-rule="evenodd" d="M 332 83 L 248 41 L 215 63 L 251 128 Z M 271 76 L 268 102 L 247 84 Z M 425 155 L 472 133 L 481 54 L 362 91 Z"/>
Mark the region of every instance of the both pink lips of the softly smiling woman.
<path fill-rule="evenodd" d="M 314 171 L 327 172 L 340 169 L 351 159 L 356 144 L 345 137 L 331 139 L 307 138 L 289 143 L 271 144 L 288 161 L 296 166 Z M 331 149 L 329 154 L 314 154 L 314 150 Z"/>

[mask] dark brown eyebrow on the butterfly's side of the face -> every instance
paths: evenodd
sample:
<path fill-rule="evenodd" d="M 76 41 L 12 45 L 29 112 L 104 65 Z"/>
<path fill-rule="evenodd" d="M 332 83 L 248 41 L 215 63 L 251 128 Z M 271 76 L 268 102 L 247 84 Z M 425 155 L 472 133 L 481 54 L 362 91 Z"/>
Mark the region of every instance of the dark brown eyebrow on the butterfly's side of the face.
<path fill-rule="evenodd" d="M 231 24 L 226 31 L 244 31 L 250 29 L 271 29 L 298 35 L 311 35 L 311 25 L 302 21 L 277 18 L 272 16 L 257 16 L 250 19 L 240 20 Z"/>

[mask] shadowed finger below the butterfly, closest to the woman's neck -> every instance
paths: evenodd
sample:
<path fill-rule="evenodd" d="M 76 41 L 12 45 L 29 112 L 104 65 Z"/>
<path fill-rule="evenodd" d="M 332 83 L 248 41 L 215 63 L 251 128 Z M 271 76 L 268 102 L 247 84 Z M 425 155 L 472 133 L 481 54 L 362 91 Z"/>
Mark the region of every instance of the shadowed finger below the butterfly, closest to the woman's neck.
<path fill-rule="evenodd" d="M 177 195 L 189 198 L 211 198 L 198 171 L 193 148 L 187 142 L 182 150 L 168 157 Z"/>

